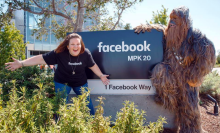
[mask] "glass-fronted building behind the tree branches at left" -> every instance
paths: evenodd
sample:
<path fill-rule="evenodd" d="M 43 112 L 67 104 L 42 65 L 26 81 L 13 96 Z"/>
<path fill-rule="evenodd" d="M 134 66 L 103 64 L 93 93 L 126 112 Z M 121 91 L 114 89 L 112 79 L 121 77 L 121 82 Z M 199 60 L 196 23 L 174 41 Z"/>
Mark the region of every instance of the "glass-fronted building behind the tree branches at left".
<path fill-rule="evenodd" d="M 33 11 L 40 11 L 40 9 L 37 8 L 35 5 L 30 5 L 30 7 L 32 8 Z M 73 8 L 74 7 L 69 7 L 68 10 L 76 10 Z M 41 40 L 36 39 L 35 34 L 32 35 L 32 30 L 38 28 L 37 23 L 41 18 L 42 16 L 40 15 L 32 14 L 23 10 L 17 10 L 14 12 L 14 17 L 12 19 L 12 22 L 15 23 L 17 29 L 20 30 L 21 34 L 24 35 L 24 42 L 27 43 L 26 58 L 39 54 L 44 54 L 51 50 L 54 50 L 61 41 L 56 39 L 56 37 L 54 36 L 51 30 L 48 31 L 49 33 L 46 40 L 45 40 L 46 35 L 43 35 Z M 55 16 L 55 18 L 57 20 L 63 19 L 60 16 Z M 45 25 L 47 27 L 50 27 L 51 21 L 52 21 L 51 18 L 47 19 Z M 65 23 L 65 20 L 62 20 L 60 22 Z M 84 22 L 83 24 L 84 29 L 89 25 L 92 25 L 92 20 L 86 20 L 86 22 Z"/>

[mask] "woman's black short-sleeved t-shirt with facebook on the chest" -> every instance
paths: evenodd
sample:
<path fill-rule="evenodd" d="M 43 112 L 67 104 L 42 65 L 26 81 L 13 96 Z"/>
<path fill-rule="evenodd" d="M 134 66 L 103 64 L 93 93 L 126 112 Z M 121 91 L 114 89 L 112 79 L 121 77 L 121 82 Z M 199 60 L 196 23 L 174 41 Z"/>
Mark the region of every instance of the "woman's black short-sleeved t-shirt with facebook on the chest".
<path fill-rule="evenodd" d="M 79 56 L 70 55 L 68 50 L 58 54 L 53 50 L 43 54 L 43 59 L 47 65 L 58 64 L 54 81 L 62 84 L 68 83 L 71 87 L 78 87 L 87 83 L 85 68 L 95 65 L 88 49 L 85 49 L 85 52 Z M 75 74 L 73 74 L 73 70 Z"/>

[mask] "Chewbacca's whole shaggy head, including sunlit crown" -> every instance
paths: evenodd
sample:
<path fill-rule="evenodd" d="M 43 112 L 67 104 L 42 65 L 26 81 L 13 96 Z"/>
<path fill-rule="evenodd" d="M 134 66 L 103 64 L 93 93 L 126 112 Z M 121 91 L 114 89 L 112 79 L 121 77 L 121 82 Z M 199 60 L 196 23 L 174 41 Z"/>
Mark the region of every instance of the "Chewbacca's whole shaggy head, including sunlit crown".
<path fill-rule="evenodd" d="M 170 14 L 169 24 L 165 29 L 167 48 L 179 49 L 184 39 L 186 39 L 190 27 L 189 9 L 186 7 L 173 9 Z"/>

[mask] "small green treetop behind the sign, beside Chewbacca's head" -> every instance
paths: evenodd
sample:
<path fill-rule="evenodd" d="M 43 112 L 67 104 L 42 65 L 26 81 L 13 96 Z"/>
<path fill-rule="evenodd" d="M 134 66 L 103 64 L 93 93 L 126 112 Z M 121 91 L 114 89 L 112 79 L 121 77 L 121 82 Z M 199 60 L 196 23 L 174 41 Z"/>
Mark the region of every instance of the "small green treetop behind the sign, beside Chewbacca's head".
<path fill-rule="evenodd" d="M 162 24 L 162 25 L 167 25 L 168 23 L 168 15 L 167 15 L 167 12 L 168 12 L 168 9 L 166 9 L 163 5 L 162 5 L 162 8 L 161 11 L 157 11 L 157 13 L 155 13 L 153 11 L 153 18 L 152 20 L 150 21 L 150 24 Z M 147 22 L 148 23 L 148 22 Z"/>

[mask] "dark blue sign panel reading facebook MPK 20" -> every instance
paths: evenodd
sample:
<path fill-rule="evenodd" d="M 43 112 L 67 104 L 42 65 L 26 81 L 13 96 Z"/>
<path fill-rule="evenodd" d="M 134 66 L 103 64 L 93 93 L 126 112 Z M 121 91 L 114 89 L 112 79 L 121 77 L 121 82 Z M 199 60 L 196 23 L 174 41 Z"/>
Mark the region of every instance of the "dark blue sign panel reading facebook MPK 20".
<path fill-rule="evenodd" d="M 163 33 L 157 30 L 140 34 L 134 30 L 78 34 L 109 79 L 149 79 L 152 68 L 163 60 Z M 91 70 L 87 70 L 87 77 L 98 78 Z"/>

